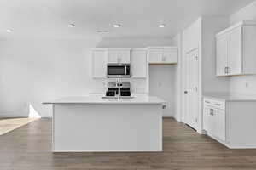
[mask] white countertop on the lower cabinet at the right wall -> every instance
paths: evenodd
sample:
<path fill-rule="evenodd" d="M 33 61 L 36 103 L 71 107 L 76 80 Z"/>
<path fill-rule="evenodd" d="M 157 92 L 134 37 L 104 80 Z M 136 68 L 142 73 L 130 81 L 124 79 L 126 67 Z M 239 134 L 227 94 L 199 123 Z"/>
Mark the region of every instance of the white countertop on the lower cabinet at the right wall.
<path fill-rule="evenodd" d="M 256 95 L 209 93 L 205 98 L 222 99 L 224 101 L 256 101 Z"/>

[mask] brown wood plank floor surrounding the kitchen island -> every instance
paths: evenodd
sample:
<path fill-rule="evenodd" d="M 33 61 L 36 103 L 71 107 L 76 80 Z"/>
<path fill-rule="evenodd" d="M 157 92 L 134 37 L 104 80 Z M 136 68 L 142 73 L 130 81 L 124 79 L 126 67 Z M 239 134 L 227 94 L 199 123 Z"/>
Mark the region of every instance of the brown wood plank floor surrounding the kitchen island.
<path fill-rule="evenodd" d="M 164 152 L 51 153 L 51 120 L 0 136 L 0 170 L 255 170 L 256 150 L 229 150 L 172 119 L 164 119 Z"/>

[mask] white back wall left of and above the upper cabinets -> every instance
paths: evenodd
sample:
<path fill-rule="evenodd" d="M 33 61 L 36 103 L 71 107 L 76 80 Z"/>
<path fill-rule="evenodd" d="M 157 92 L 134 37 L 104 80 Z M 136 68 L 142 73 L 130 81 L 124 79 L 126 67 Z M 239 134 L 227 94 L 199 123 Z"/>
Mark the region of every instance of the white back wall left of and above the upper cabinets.
<path fill-rule="evenodd" d="M 171 38 L 0 39 L 0 117 L 28 116 L 31 104 L 51 116 L 43 101 L 99 92 L 103 80 L 90 77 L 90 49 L 170 45 Z M 142 81 L 137 81 L 142 85 Z"/>

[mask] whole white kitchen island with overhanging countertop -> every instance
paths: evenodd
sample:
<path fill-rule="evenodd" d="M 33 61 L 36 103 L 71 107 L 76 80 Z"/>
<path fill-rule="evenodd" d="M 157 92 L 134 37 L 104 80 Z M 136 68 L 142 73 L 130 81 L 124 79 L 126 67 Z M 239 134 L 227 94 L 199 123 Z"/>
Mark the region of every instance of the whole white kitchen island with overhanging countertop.
<path fill-rule="evenodd" d="M 162 151 L 164 100 L 69 97 L 53 105 L 54 152 Z"/>

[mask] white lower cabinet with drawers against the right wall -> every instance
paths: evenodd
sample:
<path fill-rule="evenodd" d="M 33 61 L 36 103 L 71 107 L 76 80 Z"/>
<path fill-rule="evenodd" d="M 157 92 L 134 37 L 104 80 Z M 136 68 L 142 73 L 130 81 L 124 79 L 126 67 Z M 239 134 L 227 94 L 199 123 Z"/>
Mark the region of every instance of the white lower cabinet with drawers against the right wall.
<path fill-rule="evenodd" d="M 256 148 L 256 99 L 205 97 L 203 130 L 228 148 Z"/>

